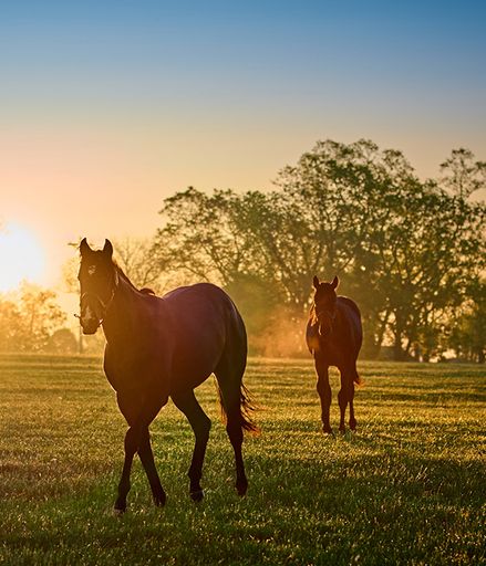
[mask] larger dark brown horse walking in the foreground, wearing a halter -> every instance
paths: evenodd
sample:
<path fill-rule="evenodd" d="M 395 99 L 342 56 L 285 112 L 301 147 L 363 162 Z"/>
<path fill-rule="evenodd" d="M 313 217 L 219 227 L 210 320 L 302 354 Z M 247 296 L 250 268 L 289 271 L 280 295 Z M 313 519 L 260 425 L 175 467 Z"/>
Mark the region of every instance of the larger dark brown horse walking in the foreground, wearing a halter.
<path fill-rule="evenodd" d="M 242 385 L 247 336 L 232 301 L 208 283 L 179 287 L 163 297 L 148 290 L 138 291 L 113 262 L 108 240 L 102 251 L 93 251 L 83 239 L 80 252 L 81 325 L 84 334 L 94 334 L 103 325 L 104 370 L 128 423 L 115 511 L 126 509 L 135 453 L 147 474 L 155 504 L 165 503 L 148 427 L 169 397 L 187 417 L 196 437 L 189 490 L 194 501 L 203 499 L 200 479 L 210 420 L 194 389 L 213 373 L 235 451 L 236 489 L 244 495 L 248 481 L 241 455 L 242 430 L 255 431 L 256 427 L 249 418 L 252 407 Z"/>

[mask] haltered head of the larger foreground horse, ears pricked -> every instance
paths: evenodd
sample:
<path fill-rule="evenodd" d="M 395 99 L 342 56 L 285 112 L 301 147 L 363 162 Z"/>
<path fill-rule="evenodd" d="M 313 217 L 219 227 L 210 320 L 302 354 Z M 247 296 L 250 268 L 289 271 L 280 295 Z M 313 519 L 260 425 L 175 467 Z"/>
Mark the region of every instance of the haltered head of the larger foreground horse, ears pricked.
<path fill-rule="evenodd" d="M 113 245 L 105 240 L 103 250 L 94 251 L 83 238 L 80 244 L 80 322 L 83 334 L 94 334 L 108 310 L 118 284 L 113 263 Z"/>

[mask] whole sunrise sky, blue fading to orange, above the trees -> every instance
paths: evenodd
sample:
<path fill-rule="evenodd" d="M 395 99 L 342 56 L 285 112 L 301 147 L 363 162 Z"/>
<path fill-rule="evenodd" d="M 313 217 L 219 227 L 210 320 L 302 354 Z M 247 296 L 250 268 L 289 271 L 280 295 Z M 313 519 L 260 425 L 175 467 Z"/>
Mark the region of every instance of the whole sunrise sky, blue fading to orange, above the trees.
<path fill-rule="evenodd" d="M 0 222 L 52 285 L 68 242 L 149 237 L 188 186 L 270 189 L 319 139 L 422 178 L 484 160 L 485 29 L 472 0 L 0 0 Z"/>

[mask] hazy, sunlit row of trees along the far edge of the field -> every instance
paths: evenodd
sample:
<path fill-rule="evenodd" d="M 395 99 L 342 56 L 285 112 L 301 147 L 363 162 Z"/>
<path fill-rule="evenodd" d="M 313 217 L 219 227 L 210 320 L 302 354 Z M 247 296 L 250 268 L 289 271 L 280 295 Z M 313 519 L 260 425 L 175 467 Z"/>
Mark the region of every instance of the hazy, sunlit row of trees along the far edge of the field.
<path fill-rule="evenodd" d="M 363 357 L 454 353 L 484 363 L 486 207 L 474 193 L 485 188 L 486 164 L 467 149 L 453 150 L 438 178 L 421 180 L 401 151 L 324 140 L 285 167 L 273 190 L 176 192 L 163 201 L 152 240 L 126 238 L 115 250 L 139 286 L 221 285 L 244 314 L 252 354 L 304 354 L 317 274 L 338 275 L 339 292 L 360 305 Z M 66 270 L 73 291 L 74 269 Z M 49 349 L 62 321 L 55 310 L 49 315 L 53 297 L 41 298 L 46 328 L 35 334 L 29 301 L 19 307 L 0 297 L 0 349 L 18 339 L 20 319 L 22 347 Z"/>

